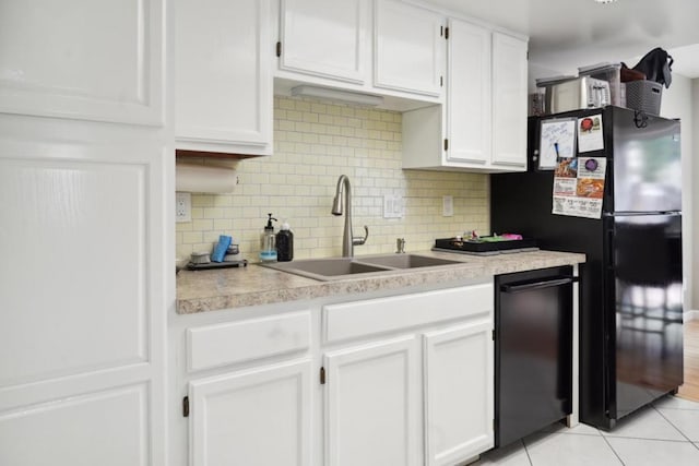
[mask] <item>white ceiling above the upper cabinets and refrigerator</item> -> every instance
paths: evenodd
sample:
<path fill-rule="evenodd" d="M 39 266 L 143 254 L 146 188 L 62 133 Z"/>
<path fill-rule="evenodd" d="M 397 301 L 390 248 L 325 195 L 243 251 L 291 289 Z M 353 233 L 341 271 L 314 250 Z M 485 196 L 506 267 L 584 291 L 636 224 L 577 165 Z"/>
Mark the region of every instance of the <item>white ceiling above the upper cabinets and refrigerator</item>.
<path fill-rule="evenodd" d="M 699 0 L 429 0 L 530 37 L 530 61 L 561 73 L 600 62 L 632 68 L 655 47 L 673 72 L 699 77 Z"/>

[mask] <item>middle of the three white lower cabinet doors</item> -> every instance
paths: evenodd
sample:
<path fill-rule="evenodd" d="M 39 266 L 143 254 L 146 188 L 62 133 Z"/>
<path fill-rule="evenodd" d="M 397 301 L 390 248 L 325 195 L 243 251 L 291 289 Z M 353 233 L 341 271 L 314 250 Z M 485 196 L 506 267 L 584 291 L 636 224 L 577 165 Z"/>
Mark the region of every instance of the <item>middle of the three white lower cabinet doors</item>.
<path fill-rule="evenodd" d="M 415 465 L 419 398 L 413 336 L 330 353 L 328 466 Z"/>

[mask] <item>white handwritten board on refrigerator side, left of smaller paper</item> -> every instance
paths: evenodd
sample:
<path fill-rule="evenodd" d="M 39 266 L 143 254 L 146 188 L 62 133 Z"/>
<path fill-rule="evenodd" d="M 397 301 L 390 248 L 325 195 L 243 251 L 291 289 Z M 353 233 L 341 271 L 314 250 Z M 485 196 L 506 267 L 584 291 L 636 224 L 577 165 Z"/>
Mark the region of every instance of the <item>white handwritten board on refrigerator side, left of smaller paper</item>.
<path fill-rule="evenodd" d="M 576 156 L 576 118 L 542 120 L 538 169 L 554 170 L 560 159 Z"/>

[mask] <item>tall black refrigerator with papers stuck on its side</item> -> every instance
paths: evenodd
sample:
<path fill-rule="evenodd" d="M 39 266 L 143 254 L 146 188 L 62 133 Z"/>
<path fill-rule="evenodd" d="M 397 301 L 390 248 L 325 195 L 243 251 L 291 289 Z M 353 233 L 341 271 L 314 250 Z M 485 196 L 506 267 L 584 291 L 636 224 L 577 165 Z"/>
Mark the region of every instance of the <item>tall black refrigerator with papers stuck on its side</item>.
<path fill-rule="evenodd" d="M 602 115 L 600 218 L 555 215 L 554 170 L 538 168 L 542 120 Z M 578 120 L 580 121 L 580 120 Z M 679 121 L 619 107 L 530 118 L 528 171 L 490 177 L 491 231 L 582 252 L 580 420 L 612 429 L 683 383 Z"/>

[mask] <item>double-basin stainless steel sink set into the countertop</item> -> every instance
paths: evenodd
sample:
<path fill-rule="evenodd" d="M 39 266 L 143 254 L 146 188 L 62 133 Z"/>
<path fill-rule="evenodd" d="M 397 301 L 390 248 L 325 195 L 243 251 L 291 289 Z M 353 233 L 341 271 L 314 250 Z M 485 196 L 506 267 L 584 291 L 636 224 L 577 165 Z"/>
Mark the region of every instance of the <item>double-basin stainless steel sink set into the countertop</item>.
<path fill-rule="evenodd" d="M 439 265 L 462 264 L 461 261 L 418 254 L 368 255 L 362 258 L 307 259 L 262 264 L 265 267 L 321 282 L 357 277 L 363 274 L 402 271 Z"/>

